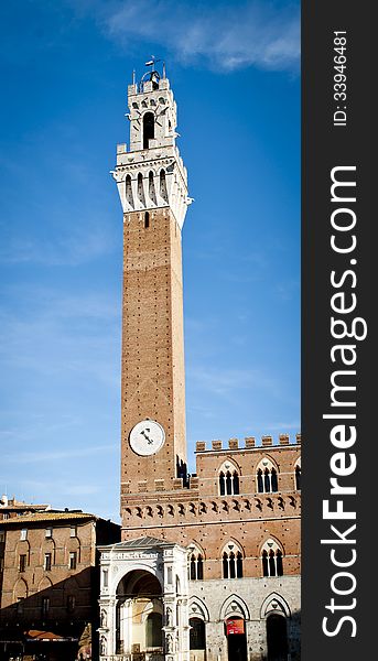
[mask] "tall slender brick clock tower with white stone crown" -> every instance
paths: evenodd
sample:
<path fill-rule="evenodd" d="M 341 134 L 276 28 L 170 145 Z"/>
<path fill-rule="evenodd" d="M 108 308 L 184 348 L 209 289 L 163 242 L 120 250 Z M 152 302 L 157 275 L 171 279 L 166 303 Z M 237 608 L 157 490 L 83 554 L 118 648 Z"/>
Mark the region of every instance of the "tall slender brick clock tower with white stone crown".
<path fill-rule="evenodd" d="M 165 73 L 128 87 L 130 149 L 117 148 L 123 209 L 121 517 L 186 476 L 181 231 L 186 170 Z"/>

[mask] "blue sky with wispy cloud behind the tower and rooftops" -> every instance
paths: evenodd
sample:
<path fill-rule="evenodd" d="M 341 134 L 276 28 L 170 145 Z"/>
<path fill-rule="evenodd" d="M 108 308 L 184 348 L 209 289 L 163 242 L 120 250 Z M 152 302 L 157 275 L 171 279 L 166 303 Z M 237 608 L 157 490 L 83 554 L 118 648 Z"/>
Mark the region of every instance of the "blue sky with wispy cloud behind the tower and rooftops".
<path fill-rule="evenodd" d="M 166 62 L 188 170 L 188 455 L 300 431 L 298 2 L 1 3 L 0 490 L 118 520 L 132 69 Z M 191 469 L 194 463 L 191 458 Z"/>

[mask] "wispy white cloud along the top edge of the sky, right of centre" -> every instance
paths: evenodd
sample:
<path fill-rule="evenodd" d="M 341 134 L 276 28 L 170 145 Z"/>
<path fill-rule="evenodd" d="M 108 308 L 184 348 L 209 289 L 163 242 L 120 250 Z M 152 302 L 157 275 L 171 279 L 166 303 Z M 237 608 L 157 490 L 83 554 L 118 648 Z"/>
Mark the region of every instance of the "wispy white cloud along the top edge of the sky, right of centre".
<path fill-rule="evenodd" d="M 187 65 L 201 63 L 225 72 L 251 65 L 290 71 L 299 66 L 296 2 L 126 0 L 109 3 L 101 20 L 108 36 L 123 47 L 129 50 L 132 40 L 150 41 Z"/>

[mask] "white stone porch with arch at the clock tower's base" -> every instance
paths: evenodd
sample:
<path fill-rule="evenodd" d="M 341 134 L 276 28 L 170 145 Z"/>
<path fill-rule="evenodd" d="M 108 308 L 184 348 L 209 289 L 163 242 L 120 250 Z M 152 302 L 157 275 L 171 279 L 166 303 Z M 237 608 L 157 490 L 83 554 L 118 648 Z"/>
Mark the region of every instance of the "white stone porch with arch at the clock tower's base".
<path fill-rule="evenodd" d="M 138 538 L 100 552 L 100 661 L 190 661 L 187 549 Z"/>

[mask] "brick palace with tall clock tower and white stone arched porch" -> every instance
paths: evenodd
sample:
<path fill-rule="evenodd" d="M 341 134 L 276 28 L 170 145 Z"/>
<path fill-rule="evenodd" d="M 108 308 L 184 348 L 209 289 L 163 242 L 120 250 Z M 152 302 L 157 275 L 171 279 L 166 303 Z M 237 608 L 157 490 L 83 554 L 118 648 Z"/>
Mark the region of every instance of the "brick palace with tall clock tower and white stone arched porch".
<path fill-rule="evenodd" d="M 153 68 L 153 63 L 152 63 Z M 128 89 L 122 541 L 100 546 L 101 661 L 300 659 L 301 436 L 196 444 L 186 473 L 181 229 L 191 198 L 165 76 Z M 143 655 L 144 654 L 144 655 Z"/>

